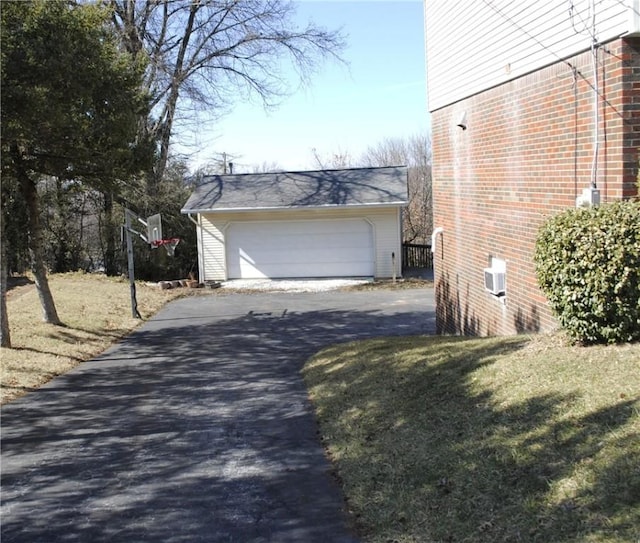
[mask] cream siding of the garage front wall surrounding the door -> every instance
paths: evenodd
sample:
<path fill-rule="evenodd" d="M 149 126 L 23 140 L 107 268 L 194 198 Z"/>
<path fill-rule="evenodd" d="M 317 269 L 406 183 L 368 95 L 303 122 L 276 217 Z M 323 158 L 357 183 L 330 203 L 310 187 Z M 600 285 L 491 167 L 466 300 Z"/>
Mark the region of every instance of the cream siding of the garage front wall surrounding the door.
<path fill-rule="evenodd" d="M 233 224 L 257 224 L 267 221 L 319 221 L 360 219 L 371 227 L 375 277 L 391 277 L 391 253 L 396 254 L 396 274 L 400 275 L 401 239 L 397 207 L 376 209 L 296 210 L 261 212 L 219 212 L 201 216 L 204 269 L 201 280 L 223 281 L 229 278 L 226 262 L 226 235 Z"/>

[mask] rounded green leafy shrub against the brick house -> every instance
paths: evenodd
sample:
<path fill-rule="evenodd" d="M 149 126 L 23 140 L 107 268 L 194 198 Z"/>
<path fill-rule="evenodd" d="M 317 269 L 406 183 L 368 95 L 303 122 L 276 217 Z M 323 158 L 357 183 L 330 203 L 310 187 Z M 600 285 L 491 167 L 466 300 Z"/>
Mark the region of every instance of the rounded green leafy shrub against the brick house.
<path fill-rule="evenodd" d="M 574 339 L 640 339 L 639 201 L 551 217 L 538 234 L 534 260 L 552 311 Z"/>

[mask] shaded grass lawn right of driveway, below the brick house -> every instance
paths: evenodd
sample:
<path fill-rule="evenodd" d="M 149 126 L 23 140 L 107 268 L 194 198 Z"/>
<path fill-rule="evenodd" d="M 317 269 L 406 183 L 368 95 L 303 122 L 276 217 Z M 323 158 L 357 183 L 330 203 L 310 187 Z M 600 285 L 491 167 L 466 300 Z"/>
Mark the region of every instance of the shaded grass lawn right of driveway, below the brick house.
<path fill-rule="evenodd" d="M 378 339 L 304 376 L 364 541 L 640 541 L 640 344 Z"/>

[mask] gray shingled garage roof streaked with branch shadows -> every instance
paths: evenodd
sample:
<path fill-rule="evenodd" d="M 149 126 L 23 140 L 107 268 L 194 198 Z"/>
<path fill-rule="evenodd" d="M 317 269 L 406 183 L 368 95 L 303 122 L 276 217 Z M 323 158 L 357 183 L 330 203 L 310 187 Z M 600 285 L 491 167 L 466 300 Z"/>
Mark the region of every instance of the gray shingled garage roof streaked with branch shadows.
<path fill-rule="evenodd" d="M 404 205 L 407 199 L 406 166 L 211 175 L 195 188 L 182 213 Z"/>

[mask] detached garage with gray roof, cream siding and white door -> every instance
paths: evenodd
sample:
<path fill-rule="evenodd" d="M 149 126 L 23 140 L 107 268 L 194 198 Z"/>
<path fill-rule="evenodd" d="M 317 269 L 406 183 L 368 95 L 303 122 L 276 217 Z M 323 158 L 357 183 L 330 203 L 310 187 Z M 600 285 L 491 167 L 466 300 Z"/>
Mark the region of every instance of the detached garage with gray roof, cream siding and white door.
<path fill-rule="evenodd" d="M 201 281 L 381 278 L 400 275 L 406 203 L 405 167 L 358 168 L 208 176 L 182 212 Z"/>

